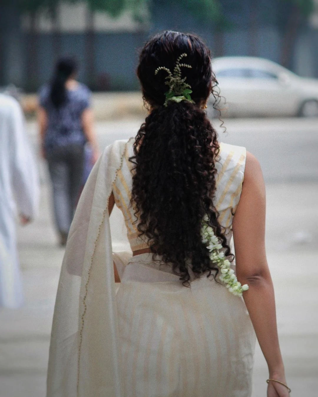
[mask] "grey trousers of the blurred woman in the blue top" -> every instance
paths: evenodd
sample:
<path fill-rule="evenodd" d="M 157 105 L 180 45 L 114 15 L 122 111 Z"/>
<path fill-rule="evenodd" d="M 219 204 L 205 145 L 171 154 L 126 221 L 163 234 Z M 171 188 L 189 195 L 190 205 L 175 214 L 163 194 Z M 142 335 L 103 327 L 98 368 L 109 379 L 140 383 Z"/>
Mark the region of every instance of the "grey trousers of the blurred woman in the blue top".
<path fill-rule="evenodd" d="M 84 147 L 56 146 L 47 151 L 46 159 L 53 187 L 56 227 L 67 235 L 83 179 Z"/>

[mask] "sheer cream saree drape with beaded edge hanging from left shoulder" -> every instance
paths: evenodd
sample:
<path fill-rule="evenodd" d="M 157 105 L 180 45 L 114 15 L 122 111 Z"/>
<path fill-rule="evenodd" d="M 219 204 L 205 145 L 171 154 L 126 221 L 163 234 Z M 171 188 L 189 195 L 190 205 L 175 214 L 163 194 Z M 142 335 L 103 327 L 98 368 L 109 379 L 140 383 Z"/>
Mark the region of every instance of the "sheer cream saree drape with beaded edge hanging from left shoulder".
<path fill-rule="evenodd" d="M 122 395 L 108 198 L 126 143 L 105 149 L 71 225 L 54 309 L 48 397 Z"/>

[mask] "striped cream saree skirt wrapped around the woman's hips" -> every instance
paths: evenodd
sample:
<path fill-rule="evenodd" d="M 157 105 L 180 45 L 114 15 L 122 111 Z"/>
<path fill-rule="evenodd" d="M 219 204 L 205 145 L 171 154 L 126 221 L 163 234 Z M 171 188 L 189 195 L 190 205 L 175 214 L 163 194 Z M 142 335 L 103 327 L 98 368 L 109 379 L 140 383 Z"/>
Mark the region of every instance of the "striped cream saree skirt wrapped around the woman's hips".
<path fill-rule="evenodd" d="M 133 263 L 151 266 L 149 254 Z M 129 320 L 119 329 L 123 373 L 129 374 L 124 396 L 251 396 L 255 335 L 243 300 L 205 277 L 190 288 L 158 281 L 156 272 L 152 282 L 137 278 L 126 278 L 116 296 L 120 324 Z"/>

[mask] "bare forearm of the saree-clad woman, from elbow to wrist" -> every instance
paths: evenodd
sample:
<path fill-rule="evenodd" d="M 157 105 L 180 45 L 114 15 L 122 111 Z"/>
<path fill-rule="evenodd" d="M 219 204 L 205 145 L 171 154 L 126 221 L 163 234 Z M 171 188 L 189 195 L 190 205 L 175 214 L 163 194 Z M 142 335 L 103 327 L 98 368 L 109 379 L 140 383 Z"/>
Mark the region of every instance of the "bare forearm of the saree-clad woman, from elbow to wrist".
<path fill-rule="evenodd" d="M 284 376 L 278 342 L 274 288 L 270 274 L 241 278 L 240 281 L 249 285 L 249 289 L 243 293 L 243 298 L 270 375 Z"/>

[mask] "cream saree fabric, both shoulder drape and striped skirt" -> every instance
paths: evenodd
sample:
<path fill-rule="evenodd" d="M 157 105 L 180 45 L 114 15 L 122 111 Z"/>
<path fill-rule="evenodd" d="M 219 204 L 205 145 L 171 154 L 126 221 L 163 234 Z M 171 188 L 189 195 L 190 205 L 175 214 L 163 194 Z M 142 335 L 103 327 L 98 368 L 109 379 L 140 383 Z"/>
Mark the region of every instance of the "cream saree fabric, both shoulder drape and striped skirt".
<path fill-rule="evenodd" d="M 152 254 L 125 251 L 116 294 L 107 206 L 126 148 L 106 148 L 71 225 L 47 396 L 250 397 L 255 334 L 241 298 L 204 276 L 183 287 Z"/>

